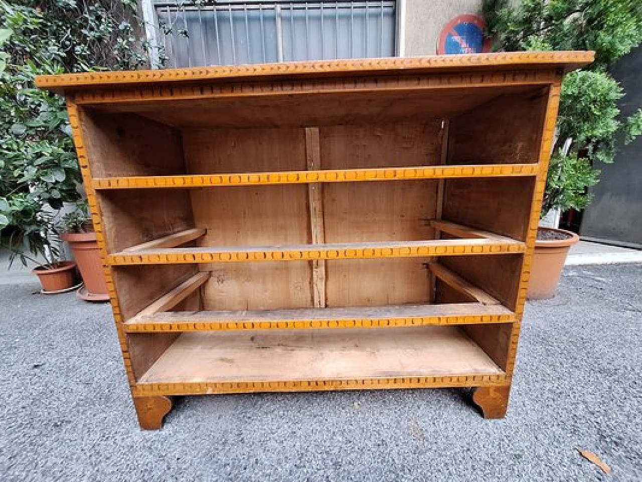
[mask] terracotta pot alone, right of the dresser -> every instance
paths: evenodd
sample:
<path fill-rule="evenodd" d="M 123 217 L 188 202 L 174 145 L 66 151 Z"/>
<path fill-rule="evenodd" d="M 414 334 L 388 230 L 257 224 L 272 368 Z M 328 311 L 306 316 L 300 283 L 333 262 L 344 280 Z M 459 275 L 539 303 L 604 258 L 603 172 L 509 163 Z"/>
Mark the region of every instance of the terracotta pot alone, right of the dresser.
<path fill-rule="evenodd" d="M 535 241 L 535 252 L 530 267 L 530 281 L 526 293 L 529 300 L 544 300 L 555 296 L 568 250 L 580 241 L 577 234 L 563 229 L 539 228 L 539 232 L 548 232 L 548 237 L 553 239 L 537 239 Z M 557 237 L 566 237 L 554 239 L 556 235 Z"/>

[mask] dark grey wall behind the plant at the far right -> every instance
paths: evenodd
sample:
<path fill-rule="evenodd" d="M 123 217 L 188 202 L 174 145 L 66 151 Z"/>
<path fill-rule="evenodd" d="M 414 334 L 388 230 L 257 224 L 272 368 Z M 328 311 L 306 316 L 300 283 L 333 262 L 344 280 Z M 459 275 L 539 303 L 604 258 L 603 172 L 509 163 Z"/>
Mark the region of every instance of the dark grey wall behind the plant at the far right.
<path fill-rule="evenodd" d="M 642 47 L 621 58 L 611 73 L 627 95 L 620 101 L 623 116 L 642 106 Z M 600 183 L 591 188 L 593 202 L 584 211 L 580 234 L 642 245 L 642 136 L 620 146 L 613 164 L 602 164 Z"/>

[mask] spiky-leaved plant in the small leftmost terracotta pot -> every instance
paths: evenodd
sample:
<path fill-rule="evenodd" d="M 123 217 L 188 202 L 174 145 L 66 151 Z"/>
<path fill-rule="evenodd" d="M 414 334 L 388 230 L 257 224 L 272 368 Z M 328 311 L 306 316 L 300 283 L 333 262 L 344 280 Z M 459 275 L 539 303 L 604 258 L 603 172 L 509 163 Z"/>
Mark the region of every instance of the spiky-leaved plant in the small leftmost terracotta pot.
<path fill-rule="evenodd" d="M 37 264 L 33 273 L 38 276 L 45 294 L 77 288 L 76 263 L 60 259 L 55 213 L 43 209 L 42 203 L 31 194 L 12 196 L 12 203 L 0 198 L 0 210 L 5 213 L 0 227 L 12 227 L 6 238 L 9 266 L 16 258 L 24 266 L 28 266 L 29 261 Z"/>

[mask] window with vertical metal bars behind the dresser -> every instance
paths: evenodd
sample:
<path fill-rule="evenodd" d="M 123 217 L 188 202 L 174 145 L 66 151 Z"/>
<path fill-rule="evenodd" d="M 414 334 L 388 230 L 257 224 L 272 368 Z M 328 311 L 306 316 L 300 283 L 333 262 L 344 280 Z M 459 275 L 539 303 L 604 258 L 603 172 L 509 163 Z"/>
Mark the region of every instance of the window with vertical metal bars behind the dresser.
<path fill-rule="evenodd" d="M 167 67 L 393 56 L 395 3 L 159 1 L 148 37 Z"/>

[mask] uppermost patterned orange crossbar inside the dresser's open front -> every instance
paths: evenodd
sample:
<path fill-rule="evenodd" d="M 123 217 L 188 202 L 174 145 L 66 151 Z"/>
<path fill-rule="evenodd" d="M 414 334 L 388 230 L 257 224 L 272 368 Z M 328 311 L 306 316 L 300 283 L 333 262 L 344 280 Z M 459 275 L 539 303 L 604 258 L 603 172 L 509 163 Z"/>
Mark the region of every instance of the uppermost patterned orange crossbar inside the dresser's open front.
<path fill-rule="evenodd" d="M 537 164 L 478 164 L 418 166 L 416 168 L 334 169 L 177 176 L 128 176 L 96 178 L 94 189 L 139 189 L 152 187 L 207 187 L 217 185 L 306 184 L 311 182 L 390 181 L 467 177 L 535 176 Z"/>

